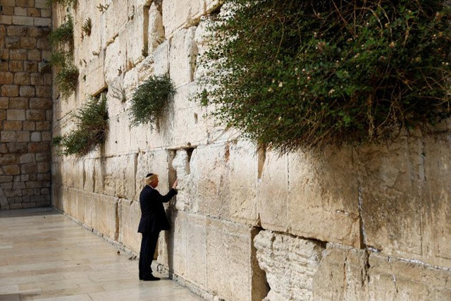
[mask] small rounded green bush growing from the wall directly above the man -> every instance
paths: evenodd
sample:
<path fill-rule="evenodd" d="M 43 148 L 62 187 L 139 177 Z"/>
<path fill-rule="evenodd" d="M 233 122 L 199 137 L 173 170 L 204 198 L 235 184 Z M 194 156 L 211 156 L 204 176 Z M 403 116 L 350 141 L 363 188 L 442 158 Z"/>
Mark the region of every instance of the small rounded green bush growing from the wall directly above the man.
<path fill-rule="evenodd" d="M 153 124 L 163 113 L 168 97 L 175 93 L 175 87 L 168 75 L 149 78 L 133 94 L 130 107 L 132 126 Z"/>

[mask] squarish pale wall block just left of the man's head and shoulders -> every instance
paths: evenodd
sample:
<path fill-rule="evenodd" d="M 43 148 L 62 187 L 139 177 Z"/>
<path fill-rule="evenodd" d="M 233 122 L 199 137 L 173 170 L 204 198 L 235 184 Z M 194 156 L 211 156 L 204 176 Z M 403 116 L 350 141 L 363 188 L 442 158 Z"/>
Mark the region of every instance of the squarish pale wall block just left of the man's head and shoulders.
<path fill-rule="evenodd" d="M 104 169 L 104 194 L 123 199 L 135 195 L 137 154 L 107 158 Z"/>

